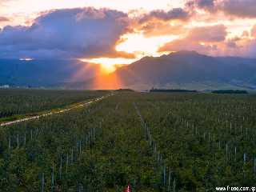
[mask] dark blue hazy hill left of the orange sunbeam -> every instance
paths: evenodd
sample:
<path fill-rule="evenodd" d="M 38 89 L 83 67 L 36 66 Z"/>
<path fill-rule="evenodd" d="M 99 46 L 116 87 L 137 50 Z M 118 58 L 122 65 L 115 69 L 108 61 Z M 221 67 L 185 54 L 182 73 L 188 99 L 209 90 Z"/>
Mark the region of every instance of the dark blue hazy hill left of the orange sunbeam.
<path fill-rule="evenodd" d="M 99 70 L 97 65 L 77 60 L 0 59 L 0 86 L 62 86 L 86 81 Z"/>

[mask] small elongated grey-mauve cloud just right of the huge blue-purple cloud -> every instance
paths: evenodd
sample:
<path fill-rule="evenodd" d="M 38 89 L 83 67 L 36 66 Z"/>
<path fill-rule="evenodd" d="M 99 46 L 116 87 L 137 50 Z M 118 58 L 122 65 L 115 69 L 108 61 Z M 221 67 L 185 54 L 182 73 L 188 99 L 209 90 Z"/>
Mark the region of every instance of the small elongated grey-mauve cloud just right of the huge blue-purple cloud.
<path fill-rule="evenodd" d="M 183 10 L 182 8 L 174 8 L 169 11 L 164 10 L 152 10 L 148 14 L 143 14 L 139 22 L 144 23 L 152 19 L 168 21 L 168 20 L 186 20 L 190 17 L 190 14 Z"/>

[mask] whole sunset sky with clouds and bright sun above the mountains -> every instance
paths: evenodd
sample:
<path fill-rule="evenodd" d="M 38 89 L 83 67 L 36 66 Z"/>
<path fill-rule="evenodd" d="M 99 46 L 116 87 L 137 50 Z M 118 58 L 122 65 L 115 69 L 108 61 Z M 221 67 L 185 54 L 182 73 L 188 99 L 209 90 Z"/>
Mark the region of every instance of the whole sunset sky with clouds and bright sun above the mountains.
<path fill-rule="evenodd" d="M 0 0 L 0 58 L 256 57 L 255 0 Z"/>

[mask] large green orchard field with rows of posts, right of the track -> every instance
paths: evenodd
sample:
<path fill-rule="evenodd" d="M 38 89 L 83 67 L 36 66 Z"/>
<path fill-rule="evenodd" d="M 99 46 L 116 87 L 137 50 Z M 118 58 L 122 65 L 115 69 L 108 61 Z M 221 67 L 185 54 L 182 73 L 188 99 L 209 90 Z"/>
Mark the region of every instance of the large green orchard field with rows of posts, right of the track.
<path fill-rule="evenodd" d="M 42 92 L 47 100 L 50 93 Z M 101 95 L 81 92 L 42 109 Z M 13 103 L 23 105 L 18 97 Z M 1 127 L 0 191 L 254 186 L 255 122 L 254 94 L 115 92 L 90 106 Z"/>

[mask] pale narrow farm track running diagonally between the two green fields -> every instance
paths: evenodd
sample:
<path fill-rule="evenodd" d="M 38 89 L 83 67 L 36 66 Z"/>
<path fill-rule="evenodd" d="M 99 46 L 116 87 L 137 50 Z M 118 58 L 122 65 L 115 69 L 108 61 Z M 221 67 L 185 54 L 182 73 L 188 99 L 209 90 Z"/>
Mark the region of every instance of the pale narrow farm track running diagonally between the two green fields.
<path fill-rule="evenodd" d="M 74 110 L 74 109 L 78 109 L 78 108 L 81 108 L 83 106 L 88 106 L 92 103 L 95 103 L 95 102 L 99 102 L 101 100 L 103 100 L 104 98 L 108 98 L 110 96 L 112 96 L 113 94 L 109 94 L 109 95 L 106 95 L 106 96 L 102 96 L 100 98 L 96 98 L 94 99 L 93 101 L 90 101 L 90 102 L 84 102 L 82 104 L 79 104 L 77 106 L 71 106 L 70 108 L 67 108 L 67 109 L 62 109 L 62 110 L 57 110 L 57 111 L 51 111 L 51 112 L 48 112 L 46 114 L 39 114 L 39 115 L 35 115 L 35 116 L 32 116 L 32 117 L 29 117 L 29 118 L 21 118 L 21 119 L 18 119 L 18 120 L 14 120 L 14 121 L 10 121 L 10 122 L 2 122 L 0 124 L 0 126 L 12 126 L 14 124 L 17 124 L 19 122 L 27 122 L 27 121 L 31 121 L 31 120 L 34 120 L 34 119 L 38 119 L 38 118 L 45 118 L 47 116 L 50 116 L 50 115 L 53 115 L 53 114 L 63 114 L 63 113 L 66 113 L 67 111 L 70 111 L 70 110 Z M 53 109 L 54 110 L 54 109 Z"/>

